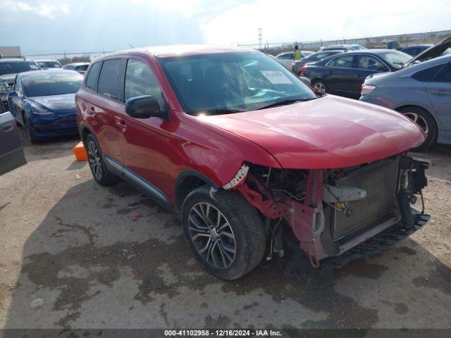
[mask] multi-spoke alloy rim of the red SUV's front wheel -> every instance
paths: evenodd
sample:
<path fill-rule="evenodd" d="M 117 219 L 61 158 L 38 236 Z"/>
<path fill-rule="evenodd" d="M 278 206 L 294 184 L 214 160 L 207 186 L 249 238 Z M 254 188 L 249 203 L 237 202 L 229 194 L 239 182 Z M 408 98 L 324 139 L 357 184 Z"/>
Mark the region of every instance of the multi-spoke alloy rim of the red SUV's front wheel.
<path fill-rule="evenodd" d="M 214 268 L 227 268 L 235 261 L 236 241 L 226 217 L 212 204 L 194 204 L 188 218 L 194 247 Z"/>

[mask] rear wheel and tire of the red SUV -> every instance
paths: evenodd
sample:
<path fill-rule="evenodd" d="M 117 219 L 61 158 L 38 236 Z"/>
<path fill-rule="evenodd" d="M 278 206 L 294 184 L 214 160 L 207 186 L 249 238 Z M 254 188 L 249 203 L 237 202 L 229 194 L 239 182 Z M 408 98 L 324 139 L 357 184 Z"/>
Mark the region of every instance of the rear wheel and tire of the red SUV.
<path fill-rule="evenodd" d="M 120 180 L 119 177 L 111 173 L 106 167 L 105 158 L 101 153 L 100 146 L 92 134 L 87 135 L 85 148 L 92 177 L 94 177 L 97 183 L 100 185 L 111 185 Z"/>

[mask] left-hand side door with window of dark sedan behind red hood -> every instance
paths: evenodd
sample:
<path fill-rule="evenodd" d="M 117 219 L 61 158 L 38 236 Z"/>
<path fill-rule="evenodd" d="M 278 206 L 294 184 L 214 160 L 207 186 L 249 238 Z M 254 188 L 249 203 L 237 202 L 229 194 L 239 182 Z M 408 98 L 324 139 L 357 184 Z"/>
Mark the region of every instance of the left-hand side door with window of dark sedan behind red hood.
<path fill-rule="evenodd" d="M 359 85 L 357 56 L 345 54 L 333 58 L 326 64 L 326 90 L 330 94 L 356 98 Z M 360 90 L 357 99 L 360 97 Z"/>

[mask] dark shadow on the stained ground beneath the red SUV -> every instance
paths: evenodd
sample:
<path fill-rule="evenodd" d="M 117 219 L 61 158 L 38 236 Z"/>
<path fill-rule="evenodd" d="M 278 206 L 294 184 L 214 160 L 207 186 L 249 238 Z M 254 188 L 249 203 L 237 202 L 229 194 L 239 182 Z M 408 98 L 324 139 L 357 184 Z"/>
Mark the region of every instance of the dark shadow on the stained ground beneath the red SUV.
<path fill-rule="evenodd" d="M 289 256 L 264 261 L 240 280 L 217 280 L 194 263 L 173 215 L 128 184 L 104 188 L 89 180 L 69 189 L 27 239 L 6 327 L 362 328 L 381 316 L 381 304 L 362 305 L 363 282 L 369 292 L 420 287 L 451 295 L 450 269 L 411 239 L 336 270 L 333 283 L 319 288 L 291 268 Z M 417 262 L 429 262 L 427 280 L 405 269 Z M 397 282 L 389 285 L 390 277 L 381 278 L 387 274 Z M 343 281 L 356 284 L 338 292 Z M 42 308 L 30 308 L 39 298 Z M 400 315 L 409 311 L 386 302 Z M 228 312 L 214 314 L 218 308 Z M 299 308 L 312 317 L 293 313 Z"/>

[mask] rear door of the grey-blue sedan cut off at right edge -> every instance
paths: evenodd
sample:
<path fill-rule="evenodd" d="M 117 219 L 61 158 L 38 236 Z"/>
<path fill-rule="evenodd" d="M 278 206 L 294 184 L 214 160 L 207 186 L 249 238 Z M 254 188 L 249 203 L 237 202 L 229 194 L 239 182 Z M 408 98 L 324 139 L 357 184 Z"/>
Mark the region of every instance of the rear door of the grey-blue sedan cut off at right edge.
<path fill-rule="evenodd" d="M 451 135 L 451 63 L 446 63 L 426 84 L 429 100 L 443 125 L 445 132 Z"/>

